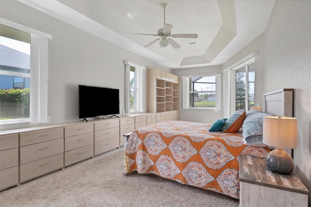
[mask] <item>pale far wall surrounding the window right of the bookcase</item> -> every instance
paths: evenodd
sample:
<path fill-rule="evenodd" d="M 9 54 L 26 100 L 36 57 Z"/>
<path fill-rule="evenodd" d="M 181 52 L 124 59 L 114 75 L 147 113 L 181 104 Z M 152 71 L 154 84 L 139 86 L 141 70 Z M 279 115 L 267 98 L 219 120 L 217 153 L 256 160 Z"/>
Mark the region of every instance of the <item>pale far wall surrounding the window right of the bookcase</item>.
<path fill-rule="evenodd" d="M 221 66 L 210 66 L 191 69 L 174 69 L 172 73 L 179 76 L 179 119 L 182 121 L 213 123 L 222 118 L 222 111 L 213 109 L 182 109 L 182 79 L 183 76 L 221 74 Z"/>

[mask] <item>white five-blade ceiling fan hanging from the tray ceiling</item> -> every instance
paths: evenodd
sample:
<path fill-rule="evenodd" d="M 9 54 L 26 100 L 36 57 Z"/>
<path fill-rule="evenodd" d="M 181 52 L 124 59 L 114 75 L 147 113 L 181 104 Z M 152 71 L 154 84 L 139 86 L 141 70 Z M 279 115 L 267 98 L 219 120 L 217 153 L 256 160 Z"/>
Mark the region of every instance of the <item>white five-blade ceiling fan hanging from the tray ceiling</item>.
<path fill-rule="evenodd" d="M 171 44 L 173 48 L 178 49 L 180 48 L 180 45 L 175 42 L 172 38 L 169 37 L 176 37 L 176 38 L 197 38 L 197 34 L 171 34 L 171 30 L 173 28 L 173 25 L 166 24 L 165 23 L 165 9 L 168 7 L 166 3 L 162 3 L 161 7 L 164 9 L 164 26 L 163 28 L 160 28 L 157 30 L 157 34 L 141 34 L 141 33 L 134 33 L 133 35 L 149 35 L 149 36 L 159 36 L 160 38 L 157 38 L 147 45 L 145 45 L 145 48 L 150 47 L 151 45 L 155 44 L 156 42 L 160 41 L 159 44 L 161 48 L 168 46 Z"/>

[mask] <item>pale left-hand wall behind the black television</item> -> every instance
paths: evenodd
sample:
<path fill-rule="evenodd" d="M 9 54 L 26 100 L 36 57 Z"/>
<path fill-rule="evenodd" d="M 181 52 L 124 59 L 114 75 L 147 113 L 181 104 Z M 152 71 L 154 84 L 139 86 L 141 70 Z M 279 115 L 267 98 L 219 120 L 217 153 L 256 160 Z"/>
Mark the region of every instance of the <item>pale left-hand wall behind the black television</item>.
<path fill-rule="evenodd" d="M 124 61 L 146 68 L 170 69 L 124 50 L 15 0 L 1 0 L 0 17 L 52 35 L 49 42 L 48 115 L 51 123 L 78 121 L 78 85 L 120 89 L 124 109 Z M 147 98 L 146 100 L 147 101 Z M 1 125 L 1 130 L 30 127 Z"/>

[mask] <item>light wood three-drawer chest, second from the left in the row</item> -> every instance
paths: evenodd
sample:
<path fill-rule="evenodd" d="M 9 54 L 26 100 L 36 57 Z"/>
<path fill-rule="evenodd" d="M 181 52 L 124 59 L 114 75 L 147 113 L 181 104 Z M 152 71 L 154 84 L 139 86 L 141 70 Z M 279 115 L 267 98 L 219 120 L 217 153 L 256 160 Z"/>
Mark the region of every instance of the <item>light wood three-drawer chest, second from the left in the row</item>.
<path fill-rule="evenodd" d="M 64 167 L 64 128 L 19 134 L 20 183 Z"/>

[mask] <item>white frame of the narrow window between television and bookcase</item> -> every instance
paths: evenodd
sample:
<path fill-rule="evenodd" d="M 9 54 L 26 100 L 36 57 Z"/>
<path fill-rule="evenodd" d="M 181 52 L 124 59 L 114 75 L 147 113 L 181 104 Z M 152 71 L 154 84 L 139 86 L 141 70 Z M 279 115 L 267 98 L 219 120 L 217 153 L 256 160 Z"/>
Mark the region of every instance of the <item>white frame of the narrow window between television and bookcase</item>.
<path fill-rule="evenodd" d="M 125 114 L 138 114 L 144 113 L 147 109 L 143 97 L 147 97 L 146 91 L 146 69 L 143 66 L 125 61 Z M 131 66 L 135 67 L 135 109 L 130 109 L 130 70 Z"/>

